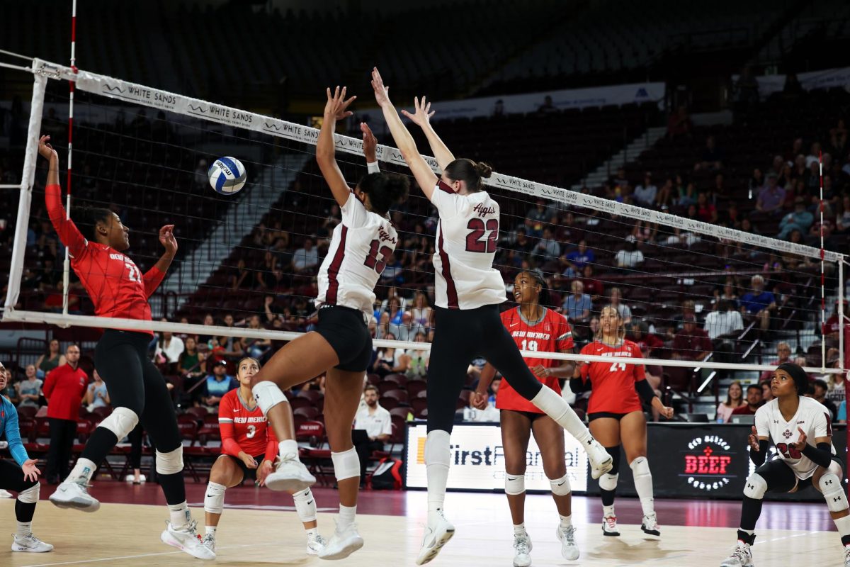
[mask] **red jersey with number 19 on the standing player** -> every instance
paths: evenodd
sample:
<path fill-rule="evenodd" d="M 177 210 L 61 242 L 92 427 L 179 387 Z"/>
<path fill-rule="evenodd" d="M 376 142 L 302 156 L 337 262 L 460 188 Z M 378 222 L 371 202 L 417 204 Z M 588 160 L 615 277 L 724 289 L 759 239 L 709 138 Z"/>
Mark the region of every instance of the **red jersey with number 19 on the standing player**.
<path fill-rule="evenodd" d="M 508 309 L 501 313 L 501 324 L 505 326 L 507 332 L 511 333 L 511 337 L 513 337 L 514 342 L 517 343 L 520 350 L 559 353 L 573 348 L 573 333 L 570 323 L 567 322 L 567 318 L 564 315 L 555 313 L 552 309 L 544 308 L 543 318 L 534 325 L 530 325 L 519 314 L 519 307 Z M 553 366 L 561 365 L 561 360 L 555 359 L 524 358 L 523 360 L 525 360 L 525 364 L 529 368 L 540 365 L 552 368 Z M 558 383 L 558 377 L 537 377 L 537 379 L 544 386 L 552 388 L 558 394 L 561 393 L 561 384 Z M 543 413 L 536 405 L 519 395 L 511 387 L 507 376 L 502 377 L 499 391 L 496 392 L 496 408 L 500 410 Z"/>

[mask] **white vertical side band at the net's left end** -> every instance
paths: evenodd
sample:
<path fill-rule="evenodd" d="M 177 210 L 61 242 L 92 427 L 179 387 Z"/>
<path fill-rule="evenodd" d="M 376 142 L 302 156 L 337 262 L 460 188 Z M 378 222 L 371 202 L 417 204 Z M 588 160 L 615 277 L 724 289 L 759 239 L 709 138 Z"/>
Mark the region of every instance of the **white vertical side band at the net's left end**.
<path fill-rule="evenodd" d="M 8 314 L 14 311 L 14 304 L 20 296 L 20 279 L 24 273 L 24 255 L 26 254 L 26 230 L 29 228 L 30 206 L 32 201 L 32 186 L 36 182 L 36 162 L 38 159 L 38 137 L 42 130 L 42 113 L 44 110 L 44 94 L 47 88 L 47 77 L 35 75 L 32 82 L 32 100 L 30 105 L 30 123 L 26 129 L 26 153 L 24 154 L 24 171 L 20 176 L 20 199 L 18 201 L 18 218 L 14 226 L 14 245 L 12 247 L 12 264 L 9 267 L 8 291 L 6 292 L 6 309 Z"/>

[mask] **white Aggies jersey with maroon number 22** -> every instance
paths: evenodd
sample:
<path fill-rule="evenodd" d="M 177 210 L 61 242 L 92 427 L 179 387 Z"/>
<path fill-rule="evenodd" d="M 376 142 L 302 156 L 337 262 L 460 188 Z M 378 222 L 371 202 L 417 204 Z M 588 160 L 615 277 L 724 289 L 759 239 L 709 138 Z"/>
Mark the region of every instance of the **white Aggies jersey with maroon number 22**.
<path fill-rule="evenodd" d="M 499 204 L 485 191 L 458 195 L 440 180 L 431 193 L 437 207 L 433 254 L 434 296 L 444 309 L 476 309 L 507 300 L 493 268 L 499 240 Z"/>

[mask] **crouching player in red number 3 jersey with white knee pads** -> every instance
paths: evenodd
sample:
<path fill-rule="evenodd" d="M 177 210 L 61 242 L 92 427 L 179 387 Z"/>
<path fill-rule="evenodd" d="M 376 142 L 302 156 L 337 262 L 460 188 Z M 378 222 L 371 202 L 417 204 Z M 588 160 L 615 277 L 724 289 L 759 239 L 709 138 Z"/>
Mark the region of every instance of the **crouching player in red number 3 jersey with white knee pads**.
<path fill-rule="evenodd" d="M 215 552 L 215 534 L 224 507 L 224 490 L 241 484 L 244 479 L 258 480 L 260 485 L 273 470 L 277 456 L 275 432 L 268 427 L 263 411 L 251 392 L 251 378 L 260 371 L 260 363 L 249 357 L 239 361 L 236 378 L 239 388 L 230 390 L 218 405 L 221 427 L 221 456 L 212 464 L 210 481 L 204 498 L 207 513 L 204 546 Z M 286 405 L 287 409 L 289 405 Z M 292 411 L 292 410 L 290 410 Z M 292 417 L 290 417 L 292 419 Z M 307 530 L 307 553 L 318 554 L 326 544 L 316 527 L 316 503 L 309 488 L 292 493 L 298 518 Z"/>

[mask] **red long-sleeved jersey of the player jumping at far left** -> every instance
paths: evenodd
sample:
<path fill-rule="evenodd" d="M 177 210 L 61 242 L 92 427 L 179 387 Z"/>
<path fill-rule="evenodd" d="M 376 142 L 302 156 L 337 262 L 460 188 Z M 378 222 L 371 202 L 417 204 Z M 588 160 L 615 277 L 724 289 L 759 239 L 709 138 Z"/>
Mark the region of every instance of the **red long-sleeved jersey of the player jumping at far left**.
<path fill-rule="evenodd" d="M 120 319 L 150 320 L 148 298 L 156 292 L 165 274 L 155 267 L 142 275 L 133 260 L 115 248 L 91 242 L 65 218 L 62 189 L 48 185 L 44 199 L 50 222 L 71 255 L 71 268 L 94 303 L 94 315 Z M 146 332 L 153 335 L 150 331 Z"/>

